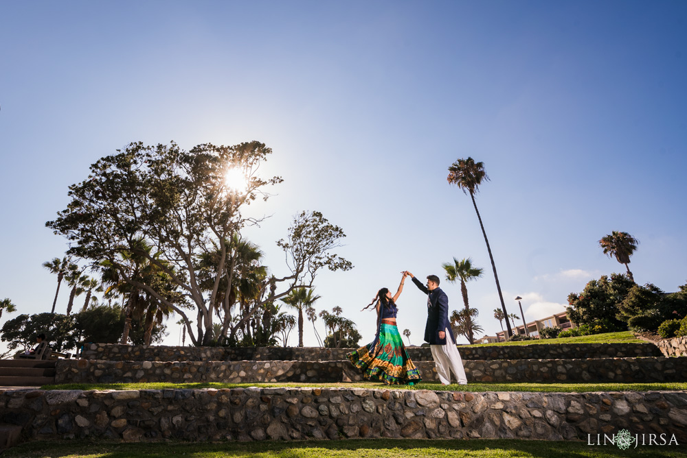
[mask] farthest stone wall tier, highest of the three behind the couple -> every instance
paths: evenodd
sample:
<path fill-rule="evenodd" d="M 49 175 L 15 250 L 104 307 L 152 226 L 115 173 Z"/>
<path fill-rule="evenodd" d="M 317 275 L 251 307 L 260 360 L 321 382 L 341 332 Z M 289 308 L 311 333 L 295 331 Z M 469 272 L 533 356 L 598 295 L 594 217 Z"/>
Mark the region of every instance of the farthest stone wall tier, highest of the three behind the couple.
<path fill-rule="evenodd" d="M 340 361 L 352 348 L 167 347 L 87 343 L 85 359 L 107 361 Z M 547 345 L 458 346 L 462 359 L 585 359 L 660 357 L 653 343 L 564 343 Z M 413 361 L 431 361 L 429 348 L 408 348 Z"/>

